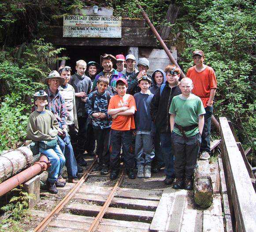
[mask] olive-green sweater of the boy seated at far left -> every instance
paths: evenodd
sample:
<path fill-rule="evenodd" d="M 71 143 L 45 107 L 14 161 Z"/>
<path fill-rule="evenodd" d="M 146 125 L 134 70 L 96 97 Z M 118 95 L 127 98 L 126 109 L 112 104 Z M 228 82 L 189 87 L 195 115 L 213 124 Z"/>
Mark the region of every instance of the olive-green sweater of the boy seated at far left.
<path fill-rule="evenodd" d="M 34 141 L 50 141 L 58 134 L 59 123 L 51 111 L 35 110 L 29 116 L 27 125 L 28 137 Z"/>

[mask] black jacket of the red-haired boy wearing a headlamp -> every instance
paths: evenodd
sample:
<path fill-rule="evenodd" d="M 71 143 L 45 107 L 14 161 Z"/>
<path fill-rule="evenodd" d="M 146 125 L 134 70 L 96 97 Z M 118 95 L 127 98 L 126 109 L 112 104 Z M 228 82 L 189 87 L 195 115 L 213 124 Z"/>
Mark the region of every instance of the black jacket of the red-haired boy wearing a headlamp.
<path fill-rule="evenodd" d="M 182 92 L 179 88 L 179 82 L 178 85 L 170 88 L 168 82 L 166 81 L 161 96 L 160 88 L 156 90 L 156 93 L 150 105 L 150 114 L 153 122 L 155 122 L 156 124 L 156 129 L 159 133 L 171 133 L 169 109 L 173 97 L 181 93 Z"/>

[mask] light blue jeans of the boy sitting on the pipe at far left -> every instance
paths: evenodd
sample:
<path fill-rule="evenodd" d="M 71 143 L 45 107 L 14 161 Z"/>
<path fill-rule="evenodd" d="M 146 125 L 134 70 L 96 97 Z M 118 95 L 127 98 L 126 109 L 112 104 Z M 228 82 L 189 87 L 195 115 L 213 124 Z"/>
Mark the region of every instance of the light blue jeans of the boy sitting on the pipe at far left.
<path fill-rule="evenodd" d="M 57 181 L 63 166 L 65 165 L 65 157 L 58 144 L 51 149 L 43 149 L 39 147 L 39 151 L 46 155 L 52 164 L 52 166 L 48 169 L 47 181 L 53 184 Z"/>

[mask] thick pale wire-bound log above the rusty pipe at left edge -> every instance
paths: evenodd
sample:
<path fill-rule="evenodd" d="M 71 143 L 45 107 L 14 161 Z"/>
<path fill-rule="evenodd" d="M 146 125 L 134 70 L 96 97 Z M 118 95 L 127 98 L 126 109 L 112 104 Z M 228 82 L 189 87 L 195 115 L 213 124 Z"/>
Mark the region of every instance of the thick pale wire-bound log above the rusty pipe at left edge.
<path fill-rule="evenodd" d="M 31 166 L 38 158 L 39 156 L 34 160 L 33 153 L 28 147 L 7 151 L 0 156 L 0 182 Z"/>

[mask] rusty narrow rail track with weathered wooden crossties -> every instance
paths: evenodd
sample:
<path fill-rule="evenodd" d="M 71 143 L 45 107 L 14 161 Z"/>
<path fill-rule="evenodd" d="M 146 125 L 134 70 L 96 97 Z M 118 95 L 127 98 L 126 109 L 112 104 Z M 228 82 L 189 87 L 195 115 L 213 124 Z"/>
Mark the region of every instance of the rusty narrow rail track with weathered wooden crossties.
<path fill-rule="evenodd" d="M 120 188 L 124 169 L 114 187 L 85 185 L 95 163 L 52 212 L 33 210 L 44 218 L 34 232 L 149 231 L 162 191 Z"/>

